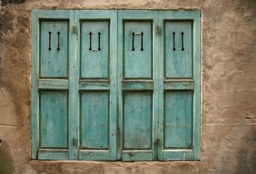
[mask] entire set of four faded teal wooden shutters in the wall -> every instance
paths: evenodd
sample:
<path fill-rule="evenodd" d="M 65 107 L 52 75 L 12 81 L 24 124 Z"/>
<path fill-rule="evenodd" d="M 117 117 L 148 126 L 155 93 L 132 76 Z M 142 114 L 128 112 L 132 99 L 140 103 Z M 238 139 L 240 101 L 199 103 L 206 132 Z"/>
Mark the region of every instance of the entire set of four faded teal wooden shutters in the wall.
<path fill-rule="evenodd" d="M 49 160 L 200 159 L 200 11 L 32 13 L 32 159 L 36 151 L 38 159 Z M 47 38 L 42 31 L 49 29 L 61 30 L 60 51 L 65 54 L 43 51 L 49 48 L 49 33 Z M 184 51 L 182 35 L 175 35 L 172 50 L 174 30 L 184 33 Z M 51 36 L 53 51 L 56 34 Z M 61 102 L 51 101 L 54 98 Z M 66 120 L 60 123 L 66 126 L 59 125 L 62 111 Z M 49 114 L 56 116 L 49 119 Z M 48 123 L 56 125 L 53 131 Z"/>

